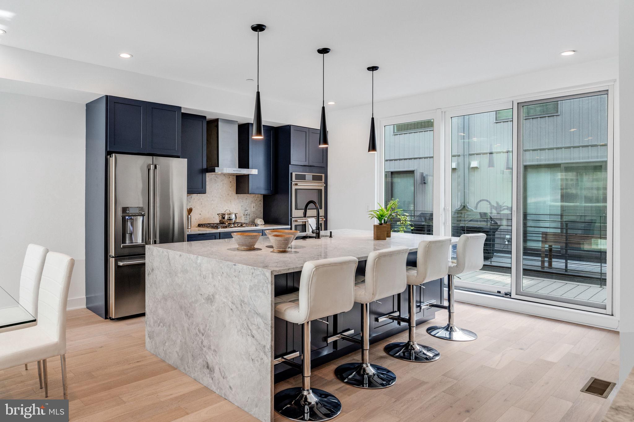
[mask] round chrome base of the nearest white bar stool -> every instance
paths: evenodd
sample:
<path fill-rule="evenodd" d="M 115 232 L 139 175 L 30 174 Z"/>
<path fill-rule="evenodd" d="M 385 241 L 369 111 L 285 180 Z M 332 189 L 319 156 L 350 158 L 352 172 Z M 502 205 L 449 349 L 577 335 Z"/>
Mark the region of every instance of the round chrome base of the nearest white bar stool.
<path fill-rule="evenodd" d="M 273 409 L 294 421 L 328 421 L 341 413 L 341 402 L 318 388 L 293 387 L 275 395 Z"/>

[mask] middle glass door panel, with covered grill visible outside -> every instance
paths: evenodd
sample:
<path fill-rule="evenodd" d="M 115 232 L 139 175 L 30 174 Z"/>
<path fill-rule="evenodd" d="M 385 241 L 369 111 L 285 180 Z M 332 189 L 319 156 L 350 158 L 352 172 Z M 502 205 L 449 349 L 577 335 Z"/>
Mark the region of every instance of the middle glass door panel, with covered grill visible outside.
<path fill-rule="evenodd" d="M 445 234 L 485 233 L 486 241 L 484 267 L 460 275 L 456 287 L 508 295 L 512 284 L 512 103 L 465 111 L 445 115 L 450 141 Z"/>

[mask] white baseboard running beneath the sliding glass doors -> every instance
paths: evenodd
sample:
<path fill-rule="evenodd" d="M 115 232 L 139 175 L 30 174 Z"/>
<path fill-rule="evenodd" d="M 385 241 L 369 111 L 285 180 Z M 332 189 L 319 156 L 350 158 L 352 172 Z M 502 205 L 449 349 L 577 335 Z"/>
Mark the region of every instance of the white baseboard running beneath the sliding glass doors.
<path fill-rule="evenodd" d="M 510 297 L 501 297 L 497 295 L 466 292 L 464 290 L 457 289 L 455 299 L 458 302 L 488 306 L 522 314 L 542 316 L 543 318 L 550 318 L 551 320 L 590 325 L 598 328 L 606 328 L 607 330 L 619 330 L 619 319 L 612 315 L 579 311 L 578 309 L 569 309 L 566 307 L 521 301 L 519 299 L 512 299 Z"/>

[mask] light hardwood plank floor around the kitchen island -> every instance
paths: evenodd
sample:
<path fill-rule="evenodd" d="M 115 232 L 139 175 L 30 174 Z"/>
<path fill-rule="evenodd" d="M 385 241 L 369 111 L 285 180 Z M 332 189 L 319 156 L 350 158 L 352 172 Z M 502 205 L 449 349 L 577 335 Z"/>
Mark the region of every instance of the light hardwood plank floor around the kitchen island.
<path fill-rule="evenodd" d="M 618 333 L 545 318 L 456 304 L 459 325 L 474 342 L 437 340 L 417 327 L 418 341 L 441 359 L 406 363 L 382 348 L 401 333 L 372 345 L 373 363 L 392 369 L 396 385 L 364 390 L 333 376 L 358 352 L 313 370 L 313 386 L 337 395 L 339 422 L 585 422 L 600 421 L 612 400 L 579 392 L 590 376 L 616 382 Z M 68 312 L 68 395 L 71 421 L 254 421 L 145 350 L 144 318 L 104 321 L 86 309 Z M 49 398 L 61 399 L 59 359 L 49 359 Z M 0 371 L 0 398 L 39 399 L 37 369 Z M 299 377 L 276 391 L 301 385 Z M 276 418 L 276 421 L 287 419 Z"/>

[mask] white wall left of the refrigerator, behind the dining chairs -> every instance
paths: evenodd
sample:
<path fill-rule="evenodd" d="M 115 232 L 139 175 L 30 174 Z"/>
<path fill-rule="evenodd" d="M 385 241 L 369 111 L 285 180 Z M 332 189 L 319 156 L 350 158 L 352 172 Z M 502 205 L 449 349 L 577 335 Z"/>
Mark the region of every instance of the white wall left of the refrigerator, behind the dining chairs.
<path fill-rule="evenodd" d="M 0 92 L 0 285 L 18 297 L 29 243 L 75 259 L 68 308 L 84 286 L 84 104 Z"/>

